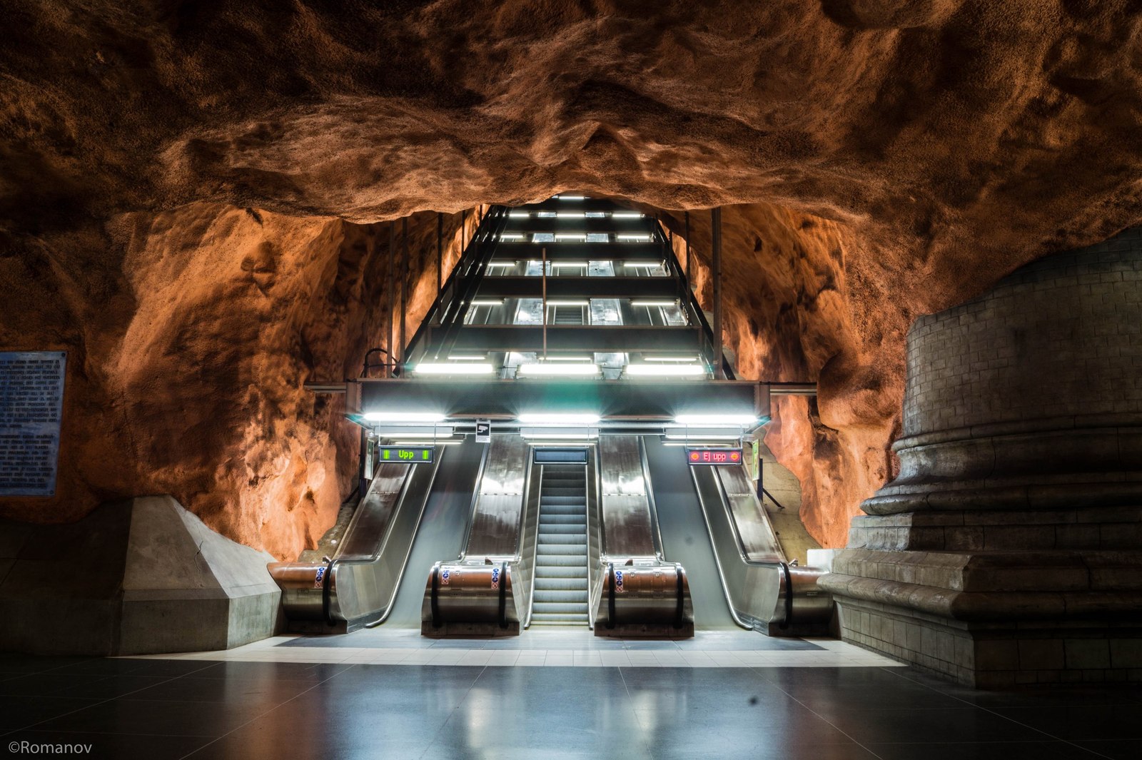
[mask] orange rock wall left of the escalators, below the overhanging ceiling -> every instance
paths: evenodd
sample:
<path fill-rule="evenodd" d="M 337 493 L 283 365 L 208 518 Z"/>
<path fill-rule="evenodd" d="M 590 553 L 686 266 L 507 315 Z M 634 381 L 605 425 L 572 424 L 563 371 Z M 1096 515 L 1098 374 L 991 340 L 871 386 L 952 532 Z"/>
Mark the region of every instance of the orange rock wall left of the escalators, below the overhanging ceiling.
<path fill-rule="evenodd" d="M 436 297 L 436 215 L 408 221 L 411 337 Z M 467 235 L 474 225 L 468 215 Z M 447 273 L 458 215 L 444 233 Z M 365 350 L 385 345 L 388 242 L 388 225 L 193 203 L 39 250 L 63 261 L 93 245 L 114 268 L 33 267 L 32 251 L 0 260 L 0 283 L 22 297 L 0 306 L 0 346 L 71 351 L 57 496 L 0 500 L 0 514 L 71 520 L 100 501 L 171 493 L 278 557 L 312 545 L 352 488 L 357 434 L 341 397 L 303 383 L 357 377 Z M 396 223 L 397 260 L 402 242 Z M 37 291 L 57 296 L 26 298 Z"/>

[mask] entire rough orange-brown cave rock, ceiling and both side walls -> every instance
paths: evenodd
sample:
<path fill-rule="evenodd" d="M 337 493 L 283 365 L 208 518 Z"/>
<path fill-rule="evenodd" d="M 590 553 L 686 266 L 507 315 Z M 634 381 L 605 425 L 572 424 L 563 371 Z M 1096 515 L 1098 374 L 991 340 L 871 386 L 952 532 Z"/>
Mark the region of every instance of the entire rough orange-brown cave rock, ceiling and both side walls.
<path fill-rule="evenodd" d="M 747 377 L 820 380 L 767 440 L 836 545 L 891 475 L 908 322 L 1142 218 L 1140 21 L 1129 0 L 9 2 L 0 348 L 67 348 L 72 374 L 61 496 L 0 514 L 170 491 L 296 553 L 354 445 L 298 385 L 378 342 L 373 225 L 577 188 L 734 207 L 731 341 Z"/>

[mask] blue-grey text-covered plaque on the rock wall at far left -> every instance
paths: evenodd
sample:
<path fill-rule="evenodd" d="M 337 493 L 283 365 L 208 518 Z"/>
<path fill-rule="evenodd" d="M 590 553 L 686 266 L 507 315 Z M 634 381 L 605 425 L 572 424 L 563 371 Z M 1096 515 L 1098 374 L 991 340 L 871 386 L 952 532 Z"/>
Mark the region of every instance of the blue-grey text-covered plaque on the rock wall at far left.
<path fill-rule="evenodd" d="M 66 351 L 0 351 L 0 496 L 54 496 Z"/>

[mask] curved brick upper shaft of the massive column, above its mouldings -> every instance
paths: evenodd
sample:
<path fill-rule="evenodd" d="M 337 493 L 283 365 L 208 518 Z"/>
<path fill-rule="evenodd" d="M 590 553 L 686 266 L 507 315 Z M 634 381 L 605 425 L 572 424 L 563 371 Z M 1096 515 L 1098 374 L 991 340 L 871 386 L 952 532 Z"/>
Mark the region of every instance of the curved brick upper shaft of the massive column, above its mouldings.
<path fill-rule="evenodd" d="M 908 334 L 906 436 L 1142 414 L 1142 228 L 1051 256 Z"/>

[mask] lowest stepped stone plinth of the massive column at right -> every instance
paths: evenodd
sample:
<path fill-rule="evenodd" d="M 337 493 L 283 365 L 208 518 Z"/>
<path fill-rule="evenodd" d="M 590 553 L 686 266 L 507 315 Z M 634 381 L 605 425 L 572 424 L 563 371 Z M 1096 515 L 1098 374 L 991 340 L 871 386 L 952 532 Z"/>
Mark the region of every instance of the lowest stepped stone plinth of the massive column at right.
<path fill-rule="evenodd" d="M 1140 568 L 1137 551 L 847 549 L 821 585 L 845 641 L 967 686 L 1136 682 Z"/>

